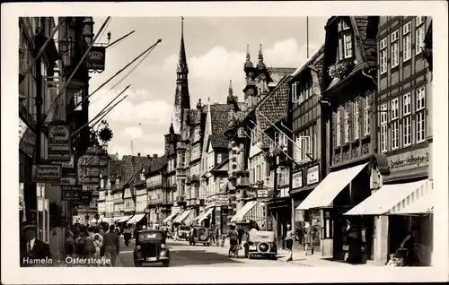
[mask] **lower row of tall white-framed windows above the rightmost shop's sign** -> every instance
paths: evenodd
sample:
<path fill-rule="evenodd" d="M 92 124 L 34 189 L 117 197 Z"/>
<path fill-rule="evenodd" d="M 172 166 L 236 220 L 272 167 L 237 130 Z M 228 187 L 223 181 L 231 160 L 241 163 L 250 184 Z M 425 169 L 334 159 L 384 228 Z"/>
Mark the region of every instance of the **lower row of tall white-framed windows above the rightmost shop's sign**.
<path fill-rule="evenodd" d="M 407 92 L 383 103 L 380 106 L 380 150 L 394 151 L 400 148 L 400 144 L 408 147 L 412 143 L 426 142 L 426 116 L 426 86 L 420 86 L 414 92 Z M 412 129 L 415 131 L 414 136 Z"/>

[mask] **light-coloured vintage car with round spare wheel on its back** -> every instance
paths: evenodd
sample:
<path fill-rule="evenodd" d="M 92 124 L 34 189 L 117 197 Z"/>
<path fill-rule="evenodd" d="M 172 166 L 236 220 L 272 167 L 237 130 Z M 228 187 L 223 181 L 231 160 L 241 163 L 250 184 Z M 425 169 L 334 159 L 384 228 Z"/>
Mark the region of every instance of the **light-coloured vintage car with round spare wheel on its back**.
<path fill-rule="evenodd" d="M 243 247 L 246 258 L 251 259 L 253 256 L 264 256 L 273 260 L 277 259 L 277 246 L 273 231 L 250 231 L 248 240 Z"/>

